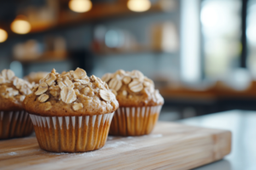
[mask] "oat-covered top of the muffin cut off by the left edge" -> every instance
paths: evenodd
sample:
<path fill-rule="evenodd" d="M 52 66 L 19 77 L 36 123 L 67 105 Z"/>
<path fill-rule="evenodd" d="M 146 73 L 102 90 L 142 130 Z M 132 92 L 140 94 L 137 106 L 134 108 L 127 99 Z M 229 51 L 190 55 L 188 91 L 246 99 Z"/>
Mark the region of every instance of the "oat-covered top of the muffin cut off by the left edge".
<path fill-rule="evenodd" d="M 0 111 L 23 110 L 22 101 L 32 93 L 32 84 L 15 77 L 14 71 L 0 73 Z"/>

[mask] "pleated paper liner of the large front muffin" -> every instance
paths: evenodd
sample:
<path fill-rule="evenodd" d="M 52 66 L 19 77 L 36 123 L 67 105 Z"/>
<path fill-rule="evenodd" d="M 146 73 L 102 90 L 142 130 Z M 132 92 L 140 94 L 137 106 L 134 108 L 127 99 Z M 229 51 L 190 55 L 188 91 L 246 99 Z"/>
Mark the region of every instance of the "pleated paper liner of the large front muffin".
<path fill-rule="evenodd" d="M 98 150 L 106 143 L 113 113 L 95 116 L 30 114 L 38 144 L 53 152 Z"/>

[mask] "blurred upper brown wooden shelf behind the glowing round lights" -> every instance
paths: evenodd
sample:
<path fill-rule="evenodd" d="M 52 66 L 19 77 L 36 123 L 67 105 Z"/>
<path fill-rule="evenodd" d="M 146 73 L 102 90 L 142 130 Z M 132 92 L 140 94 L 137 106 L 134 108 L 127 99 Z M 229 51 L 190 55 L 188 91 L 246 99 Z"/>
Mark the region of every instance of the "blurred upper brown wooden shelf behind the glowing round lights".
<path fill-rule="evenodd" d="M 32 25 L 32 30 L 26 35 L 56 30 L 84 22 L 116 19 L 124 16 L 133 17 L 143 14 L 153 14 L 165 11 L 166 10 L 158 3 L 153 4 L 151 8 L 148 9 L 148 11 L 145 11 L 143 13 L 131 11 L 129 8 L 127 8 L 125 1 L 118 1 L 118 3 L 95 3 L 93 4 L 93 7 L 90 9 L 90 11 L 86 13 L 75 13 L 70 9 L 62 9 L 60 10 L 60 13 L 58 14 L 58 17 L 54 23 L 46 22 L 44 23 L 44 25 L 40 26 Z M 5 27 L 10 37 L 26 36 L 15 34 L 14 32 L 10 31 L 9 26 Z"/>

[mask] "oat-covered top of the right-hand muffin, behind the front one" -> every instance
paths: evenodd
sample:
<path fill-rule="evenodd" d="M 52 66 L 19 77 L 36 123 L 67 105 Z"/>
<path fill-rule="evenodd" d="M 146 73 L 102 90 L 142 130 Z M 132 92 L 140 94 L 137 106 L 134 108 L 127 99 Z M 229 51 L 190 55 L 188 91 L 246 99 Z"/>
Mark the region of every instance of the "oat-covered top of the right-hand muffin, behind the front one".
<path fill-rule="evenodd" d="M 108 87 L 119 101 L 119 106 L 141 107 L 164 104 L 159 90 L 154 89 L 154 82 L 144 77 L 141 71 L 119 70 L 113 74 L 107 73 L 102 77 L 102 81 L 108 83 Z"/>

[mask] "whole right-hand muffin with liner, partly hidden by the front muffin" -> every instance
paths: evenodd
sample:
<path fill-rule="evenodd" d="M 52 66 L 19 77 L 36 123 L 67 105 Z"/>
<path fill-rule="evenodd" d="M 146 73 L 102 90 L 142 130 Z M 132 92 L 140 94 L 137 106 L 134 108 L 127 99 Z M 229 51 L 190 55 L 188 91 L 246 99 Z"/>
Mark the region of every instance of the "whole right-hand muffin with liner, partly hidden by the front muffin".
<path fill-rule="evenodd" d="M 109 134 L 138 136 L 151 133 L 164 104 L 159 91 L 154 89 L 154 82 L 141 71 L 123 70 L 105 74 L 102 81 L 108 83 L 119 101 Z"/>

